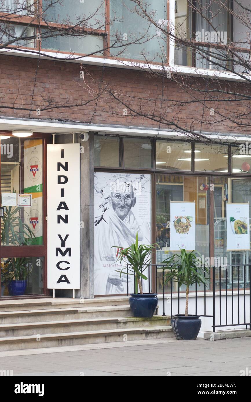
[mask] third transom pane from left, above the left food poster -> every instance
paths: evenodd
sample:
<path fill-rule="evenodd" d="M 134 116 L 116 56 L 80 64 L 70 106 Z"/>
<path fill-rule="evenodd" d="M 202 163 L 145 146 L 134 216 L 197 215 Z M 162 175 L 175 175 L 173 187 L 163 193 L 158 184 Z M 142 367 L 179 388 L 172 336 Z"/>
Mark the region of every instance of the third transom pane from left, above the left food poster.
<path fill-rule="evenodd" d="M 191 143 L 157 140 L 156 168 L 191 170 Z"/>

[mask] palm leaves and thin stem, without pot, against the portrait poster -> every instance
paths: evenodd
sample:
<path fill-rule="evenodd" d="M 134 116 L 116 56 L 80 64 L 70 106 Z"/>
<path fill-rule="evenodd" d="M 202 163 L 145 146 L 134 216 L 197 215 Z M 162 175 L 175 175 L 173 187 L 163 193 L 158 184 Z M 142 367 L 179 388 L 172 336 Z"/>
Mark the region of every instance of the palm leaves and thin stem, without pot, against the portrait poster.
<path fill-rule="evenodd" d="M 140 289 L 140 294 L 143 294 L 143 289 L 141 285 L 141 278 L 146 280 L 146 275 L 143 272 L 148 267 L 147 264 L 150 263 L 151 260 L 151 252 L 154 249 L 156 244 L 152 246 L 147 246 L 145 244 L 138 244 L 138 232 L 136 234 L 136 241 L 132 244 L 132 246 L 128 248 L 123 248 L 122 246 L 113 246 L 119 248 L 119 258 L 118 261 L 120 263 L 124 261 L 128 264 L 128 272 L 127 267 L 122 268 L 121 270 L 117 269 L 116 271 L 120 273 L 120 277 L 122 274 L 126 275 L 135 275 L 135 291 L 138 293 L 138 287 Z"/>

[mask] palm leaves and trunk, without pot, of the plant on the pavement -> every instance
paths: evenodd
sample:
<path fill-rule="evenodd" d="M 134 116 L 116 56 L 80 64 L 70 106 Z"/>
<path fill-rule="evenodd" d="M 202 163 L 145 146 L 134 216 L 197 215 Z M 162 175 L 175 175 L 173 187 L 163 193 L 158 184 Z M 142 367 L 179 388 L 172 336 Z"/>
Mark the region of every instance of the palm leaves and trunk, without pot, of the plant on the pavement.
<path fill-rule="evenodd" d="M 189 287 L 194 283 L 198 285 L 206 285 L 208 283 L 209 277 L 208 268 L 198 266 L 198 261 L 202 261 L 202 256 L 198 251 L 186 251 L 184 248 L 180 250 L 180 254 L 173 254 L 172 257 L 175 258 L 170 262 L 170 257 L 163 261 L 166 263 L 165 270 L 165 283 L 171 281 L 178 282 L 179 287 L 181 285 L 186 286 L 186 305 L 185 305 L 185 316 L 188 316 L 188 297 L 189 297 Z M 199 257 L 199 258 L 198 258 Z M 174 262 L 175 261 L 175 262 Z"/>

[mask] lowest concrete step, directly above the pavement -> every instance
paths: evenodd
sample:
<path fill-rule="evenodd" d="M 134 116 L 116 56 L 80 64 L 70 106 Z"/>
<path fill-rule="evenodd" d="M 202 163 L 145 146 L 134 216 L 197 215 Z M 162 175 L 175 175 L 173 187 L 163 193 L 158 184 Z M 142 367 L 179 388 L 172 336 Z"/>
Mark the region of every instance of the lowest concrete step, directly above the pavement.
<path fill-rule="evenodd" d="M 169 325 L 0 338 L 0 351 L 174 337 Z"/>

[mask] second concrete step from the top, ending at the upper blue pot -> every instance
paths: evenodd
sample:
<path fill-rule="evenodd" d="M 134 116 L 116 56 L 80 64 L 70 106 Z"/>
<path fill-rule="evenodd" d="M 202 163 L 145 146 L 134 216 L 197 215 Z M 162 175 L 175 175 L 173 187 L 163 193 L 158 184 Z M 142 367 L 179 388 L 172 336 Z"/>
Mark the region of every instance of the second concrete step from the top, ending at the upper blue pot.
<path fill-rule="evenodd" d="M 49 308 L 40 310 L 0 312 L 1 324 L 23 322 L 78 320 L 80 318 L 129 317 L 132 316 L 129 304 L 121 306 L 100 306 L 80 308 Z"/>

